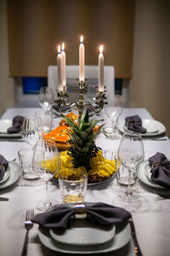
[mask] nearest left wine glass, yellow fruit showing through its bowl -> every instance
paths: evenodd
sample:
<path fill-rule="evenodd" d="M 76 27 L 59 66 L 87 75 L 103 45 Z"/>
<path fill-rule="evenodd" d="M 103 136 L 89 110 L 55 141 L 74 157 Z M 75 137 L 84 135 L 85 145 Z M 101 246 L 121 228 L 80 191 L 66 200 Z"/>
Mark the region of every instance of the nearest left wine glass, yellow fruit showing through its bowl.
<path fill-rule="evenodd" d="M 59 151 L 54 140 L 43 139 L 37 142 L 34 148 L 32 166 L 34 172 L 46 183 L 47 198 L 37 203 L 37 209 L 44 212 L 57 204 L 54 199 L 48 199 L 48 181 L 60 169 Z"/>

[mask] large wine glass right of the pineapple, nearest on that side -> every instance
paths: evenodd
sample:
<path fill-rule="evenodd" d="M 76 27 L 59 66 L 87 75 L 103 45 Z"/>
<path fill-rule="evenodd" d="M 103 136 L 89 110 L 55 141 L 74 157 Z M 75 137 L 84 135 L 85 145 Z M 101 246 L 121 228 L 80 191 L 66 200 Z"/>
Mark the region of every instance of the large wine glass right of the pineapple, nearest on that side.
<path fill-rule="evenodd" d="M 137 199 L 139 192 L 133 189 L 139 171 L 139 164 L 144 160 L 144 146 L 141 135 L 124 133 L 117 153 L 117 182 L 125 189 L 118 195 L 123 199 Z"/>

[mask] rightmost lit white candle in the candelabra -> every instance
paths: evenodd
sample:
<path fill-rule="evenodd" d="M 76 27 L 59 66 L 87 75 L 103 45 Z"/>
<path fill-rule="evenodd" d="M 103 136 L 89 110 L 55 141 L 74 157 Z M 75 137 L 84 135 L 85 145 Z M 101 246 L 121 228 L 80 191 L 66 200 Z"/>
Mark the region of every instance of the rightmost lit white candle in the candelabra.
<path fill-rule="evenodd" d="M 99 91 L 104 92 L 104 55 L 103 45 L 99 47 Z"/>

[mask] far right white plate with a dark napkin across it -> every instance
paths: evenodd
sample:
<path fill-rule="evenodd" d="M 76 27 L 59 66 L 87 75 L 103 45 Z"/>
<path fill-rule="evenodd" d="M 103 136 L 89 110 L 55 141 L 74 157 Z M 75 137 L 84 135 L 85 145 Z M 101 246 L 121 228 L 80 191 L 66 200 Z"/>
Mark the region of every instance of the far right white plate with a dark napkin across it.
<path fill-rule="evenodd" d="M 166 131 L 166 128 L 161 122 L 153 120 L 153 119 L 142 119 L 142 124 L 144 128 L 146 128 L 145 133 L 140 133 L 142 137 L 152 137 L 161 135 L 161 133 Z M 125 121 L 120 120 L 117 124 L 117 128 L 119 131 L 124 133 L 125 131 L 129 131 L 126 128 Z M 131 131 L 132 132 L 132 131 Z"/>

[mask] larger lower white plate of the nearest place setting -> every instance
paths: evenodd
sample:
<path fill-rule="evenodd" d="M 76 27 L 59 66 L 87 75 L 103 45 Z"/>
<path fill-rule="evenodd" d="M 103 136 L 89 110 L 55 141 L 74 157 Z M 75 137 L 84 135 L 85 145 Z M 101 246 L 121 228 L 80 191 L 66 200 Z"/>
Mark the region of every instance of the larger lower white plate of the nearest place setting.
<path fill-rule="evenodd" d="M 107 253 L 124 247 L 127 244 L 130 240 L 130 226 L 127 224 L 125 227 L 116 227 L 116 234 L 110 241 L 94 246 L 71 246 L 54 241 L 50 236 L 48 229 L 39 229 L 38 236 L 44 246 L 55 252 L 71 254 Z"/>

